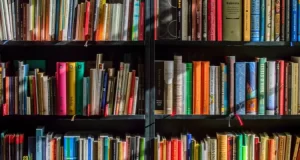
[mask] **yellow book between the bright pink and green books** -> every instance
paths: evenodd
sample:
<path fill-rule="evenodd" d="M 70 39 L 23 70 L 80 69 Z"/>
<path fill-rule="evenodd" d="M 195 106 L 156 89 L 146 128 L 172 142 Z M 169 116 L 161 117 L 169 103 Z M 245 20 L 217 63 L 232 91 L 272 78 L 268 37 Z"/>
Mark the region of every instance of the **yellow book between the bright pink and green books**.
<path fill-rule="evenodd" d="M 76 62 L 67 63 L 67 111 L 68 115 L 75 115 L 76 92 Z"/>

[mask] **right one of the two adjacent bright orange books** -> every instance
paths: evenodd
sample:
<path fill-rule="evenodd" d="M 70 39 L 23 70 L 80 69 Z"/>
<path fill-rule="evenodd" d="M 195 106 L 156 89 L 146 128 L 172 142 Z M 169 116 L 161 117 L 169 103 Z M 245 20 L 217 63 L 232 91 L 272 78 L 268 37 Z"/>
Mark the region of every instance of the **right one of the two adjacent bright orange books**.
<path fill-rule="evenodd" d="M 209 61 L 201 62 L 202 114 L 209 114 Z"/>

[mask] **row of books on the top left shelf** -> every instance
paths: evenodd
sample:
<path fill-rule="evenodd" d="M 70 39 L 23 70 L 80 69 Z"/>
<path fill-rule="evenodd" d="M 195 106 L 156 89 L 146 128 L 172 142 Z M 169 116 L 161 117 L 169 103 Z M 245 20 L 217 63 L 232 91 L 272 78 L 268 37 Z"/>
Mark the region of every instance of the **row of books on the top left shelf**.
<path fill-rule="evenodd" d="M 0 40 L 142 41 L 144 0 L 1 0 Z"/>

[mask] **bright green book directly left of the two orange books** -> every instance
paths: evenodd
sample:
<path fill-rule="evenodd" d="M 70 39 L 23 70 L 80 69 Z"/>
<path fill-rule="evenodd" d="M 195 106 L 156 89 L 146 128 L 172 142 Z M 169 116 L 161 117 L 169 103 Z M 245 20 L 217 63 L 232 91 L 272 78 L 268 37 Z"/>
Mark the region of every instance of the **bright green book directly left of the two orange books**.
<path fill-rule="evenodd" d="M 193 106 L 193 64 L 186 63 L 186 114 L 192 114 Z"/>

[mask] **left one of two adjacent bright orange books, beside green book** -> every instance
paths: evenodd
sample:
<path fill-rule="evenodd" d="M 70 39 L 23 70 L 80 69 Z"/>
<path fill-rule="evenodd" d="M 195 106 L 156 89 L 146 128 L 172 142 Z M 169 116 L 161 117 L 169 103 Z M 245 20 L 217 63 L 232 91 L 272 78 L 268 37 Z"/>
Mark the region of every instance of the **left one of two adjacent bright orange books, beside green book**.
<path fill-rule="evenodd" d="M 201 62 L 193 62 L 193 114 L 201 114 Z"/>

